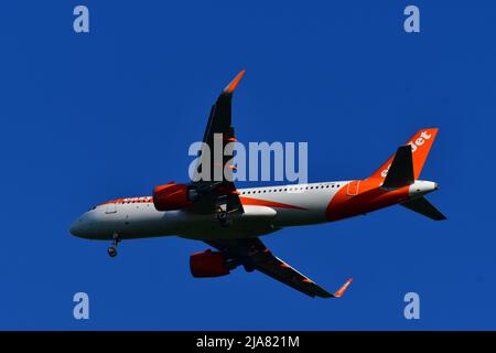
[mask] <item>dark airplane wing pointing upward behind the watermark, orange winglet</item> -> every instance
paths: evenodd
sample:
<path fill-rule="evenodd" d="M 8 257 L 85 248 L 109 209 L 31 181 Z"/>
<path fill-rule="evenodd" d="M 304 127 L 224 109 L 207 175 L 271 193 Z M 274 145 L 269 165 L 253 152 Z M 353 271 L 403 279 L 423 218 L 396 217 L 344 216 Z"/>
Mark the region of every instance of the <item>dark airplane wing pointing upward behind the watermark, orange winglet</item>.
<path fill-rule="evenodd" d="M 233 182 L 233 170 L 236 167 L 226 165 L 233 157 L 223 153 L 227 143 L 236 141 L 231 126 L 231 100 L 233 93 L 244 74 L 245 71 L 241 71 L 212 106 L 203 137 L 204 148 L 200 152 L 201 165 L 195 169 L 193 181 L 193 185 L 203 196 L 202 202 L 195 205 L 195 211 L 208 213 L 215 211 L 219 204 L 224 204 L 227 212 L 244 212 Z M 205 149 L 209 152 L 205 152 Z M 216 150 L 220 152 L 215 153 Z"/>

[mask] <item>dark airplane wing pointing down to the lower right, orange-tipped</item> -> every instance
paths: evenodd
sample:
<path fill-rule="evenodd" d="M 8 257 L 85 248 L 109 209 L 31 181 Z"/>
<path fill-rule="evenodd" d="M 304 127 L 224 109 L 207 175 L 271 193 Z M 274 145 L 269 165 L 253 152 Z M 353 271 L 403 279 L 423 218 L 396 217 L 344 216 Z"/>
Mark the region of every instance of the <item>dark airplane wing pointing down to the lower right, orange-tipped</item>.
<path fill-rule="evenodd" d="M 335 293 L 330 293 L 272 253 L 258 238 L 206 240 L 206 244 L 224 253 L 227 259 L 244 265 L 247 270 L 257 269 L 310 297 L 338 298 L 353 279 L 348 279 Z"/>

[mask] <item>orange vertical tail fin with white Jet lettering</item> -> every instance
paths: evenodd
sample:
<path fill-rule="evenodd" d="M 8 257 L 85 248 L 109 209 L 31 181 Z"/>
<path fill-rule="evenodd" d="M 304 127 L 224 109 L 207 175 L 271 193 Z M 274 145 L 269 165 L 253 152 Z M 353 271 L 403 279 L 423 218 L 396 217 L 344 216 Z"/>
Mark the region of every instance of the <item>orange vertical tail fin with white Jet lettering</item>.
<path fill-rule="evenodd" d="M 434 142 L 435 135 L 438 133 L 438 128 L 429 128 L 419 130 L 413 137 L 408 140 L 405 146 L 411 146 L 412 160 L 413 160 L 413 176 L 419 179 L 420 172 L 422 171 L 423 164 L 425 163 L 429 151 L 431 150 L 432 143 Z M 391 156 L 374 174 L 370 179 L 384 180 L 388 174 L 389 168 L 395 156 Z"/>

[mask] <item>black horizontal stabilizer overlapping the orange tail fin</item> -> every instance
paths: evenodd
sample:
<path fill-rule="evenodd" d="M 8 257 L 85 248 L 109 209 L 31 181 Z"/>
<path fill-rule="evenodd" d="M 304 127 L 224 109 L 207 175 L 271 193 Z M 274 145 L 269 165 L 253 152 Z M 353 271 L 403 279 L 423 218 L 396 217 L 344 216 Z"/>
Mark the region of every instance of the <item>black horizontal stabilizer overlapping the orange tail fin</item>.
<path fill-rule="evenodd" d="M 410 146 L 401 146 L 395 154 L 382 189 L 398 189 L 413 183 L 413 161 Z"/>

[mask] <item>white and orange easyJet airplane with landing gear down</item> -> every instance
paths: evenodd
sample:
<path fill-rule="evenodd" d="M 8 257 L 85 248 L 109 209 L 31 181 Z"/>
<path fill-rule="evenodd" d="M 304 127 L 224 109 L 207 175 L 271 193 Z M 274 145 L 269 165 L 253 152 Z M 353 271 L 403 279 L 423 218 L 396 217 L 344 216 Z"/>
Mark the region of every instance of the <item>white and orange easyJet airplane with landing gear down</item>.
<path fill-rule="evenodd" d="M 223 146 L 236 140 L 231 98 L 244 74 L 241 71 L 213 105 L 205 146 L 212 147 L 217 133 L 222 133 Z M 339 298 L 352 278 L 337 291 L 328 292 L 274 256 L 260 237 L 285 227 L 341 221 L 392 205 L 434 221 L 445 220 L 424 197 L 439 189 L 438 183 L 419 180 L 436 133 L 438 128 L 420 129 L 363 180 L 236 189 L 233 179 L 223 173 L 217 181 L 203 178 L 170 182 L 154 188 L 151 196 L 96 205 L 79 216 L 69 232 L 86 239 L 111 240 L 110 257 L 117 255 L 117 246 L 125 239 L 180 236 L 202 240 L 214 250 L 190 256 L 193 277 L 226 276 L 242 266 L 248 272 L 258 270 L 310 297 Z M 228 159 L 224 158 L 220 165 L 202 162 L 211 163 L 212 176 L 215 168 L 224 170 Z"/>

